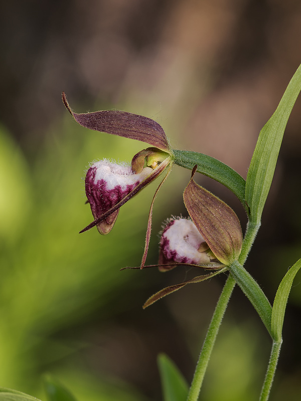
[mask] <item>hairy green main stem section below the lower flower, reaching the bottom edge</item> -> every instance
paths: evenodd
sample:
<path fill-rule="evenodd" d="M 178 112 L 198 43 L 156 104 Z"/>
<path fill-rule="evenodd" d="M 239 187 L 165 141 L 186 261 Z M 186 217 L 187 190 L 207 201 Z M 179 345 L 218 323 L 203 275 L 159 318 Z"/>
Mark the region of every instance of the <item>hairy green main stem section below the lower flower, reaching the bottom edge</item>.
<path fill-rule="evenodd" d="M 235 286 L 235 280 L 232 278 L 232 276 L 229 276 L 225 283 L 223 291 L 220 295 L 218 303 L 216 305 L 214 314 L 212 316 L 212 320 L 210 322 L 207 335 L 203 343 L 203 347 L 196 366 L 191 387 L 189 389 L 187 401 L 197 401 L 199 397 L 201 385 L 207 369 L 210 355 L 234 286 Z"/>

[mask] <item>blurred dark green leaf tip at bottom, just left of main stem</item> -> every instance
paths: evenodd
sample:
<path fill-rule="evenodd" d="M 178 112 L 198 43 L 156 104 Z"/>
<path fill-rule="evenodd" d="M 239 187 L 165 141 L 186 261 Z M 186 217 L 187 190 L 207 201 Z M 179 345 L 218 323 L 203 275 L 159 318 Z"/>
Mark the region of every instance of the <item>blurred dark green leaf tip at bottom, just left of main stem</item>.
<path fill-rule="evenodd" d="M 158 356 L 164 401 L 186 401 L 189 386 L 175 363 L 166 355 Z"/>

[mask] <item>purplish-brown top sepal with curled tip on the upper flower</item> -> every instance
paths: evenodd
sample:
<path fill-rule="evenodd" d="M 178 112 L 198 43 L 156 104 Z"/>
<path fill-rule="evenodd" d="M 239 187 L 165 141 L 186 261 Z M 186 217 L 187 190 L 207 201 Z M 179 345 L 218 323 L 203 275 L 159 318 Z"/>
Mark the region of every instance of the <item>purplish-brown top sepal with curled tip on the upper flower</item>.
<path fill-rule="evenodd" d="M 119 135 L 149 143 L 161 150 L 169 151 L 169 143 L 164 129 L 151 118 L 125 111 L 95 111 L 93 113 L 74 113 L 62 93 L 63 102 L 76 122 L 95 131 Z"/>

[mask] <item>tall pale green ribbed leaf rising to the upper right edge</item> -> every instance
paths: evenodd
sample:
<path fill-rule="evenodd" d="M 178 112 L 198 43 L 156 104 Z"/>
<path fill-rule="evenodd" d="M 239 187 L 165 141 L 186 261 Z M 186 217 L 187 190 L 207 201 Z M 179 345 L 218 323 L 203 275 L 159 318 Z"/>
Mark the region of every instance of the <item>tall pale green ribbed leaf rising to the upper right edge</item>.
<path fill-rule="evenodd" d="M 250 220 L 259 223 L 272 183 L 288 117 L 301 90 L 301 65 L 290 80 L 280 103 L 260 131 L 246 179 L 246 203 Z"/>

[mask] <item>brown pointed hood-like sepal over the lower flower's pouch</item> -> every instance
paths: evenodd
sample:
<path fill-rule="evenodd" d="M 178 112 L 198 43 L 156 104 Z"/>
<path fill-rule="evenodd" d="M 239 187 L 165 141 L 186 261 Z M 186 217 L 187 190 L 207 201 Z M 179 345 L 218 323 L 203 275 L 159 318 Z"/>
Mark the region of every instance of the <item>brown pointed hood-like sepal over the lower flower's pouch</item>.
<path fill-rule="evenodd" d="M 222 200 L 193 180 L 196 167 L 184 190 L 186 209 L 217 259 L 229 265 L 241 252 L 242 231 L 238 217 Z"/>

